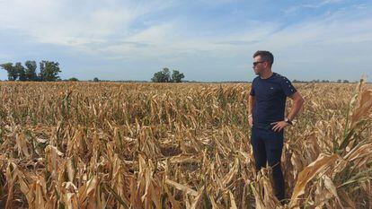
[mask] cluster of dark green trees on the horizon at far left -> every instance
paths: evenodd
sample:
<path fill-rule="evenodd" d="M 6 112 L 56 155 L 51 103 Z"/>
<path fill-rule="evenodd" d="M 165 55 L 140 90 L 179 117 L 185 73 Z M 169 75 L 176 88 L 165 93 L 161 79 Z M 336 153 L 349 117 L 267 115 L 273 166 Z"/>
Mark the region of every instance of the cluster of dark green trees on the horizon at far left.
<path fill-rule="evenodd" d="M 39 64 L 40 73 L 36 69 L 38 65 L 35 61 L 4 63 L 0 65 L 8 73 L 8 81 L 32 81 L 32 82 L 56 82 L 59 80 L 58 74 L 61 72 L 58 62 L 42 60 Z"/>

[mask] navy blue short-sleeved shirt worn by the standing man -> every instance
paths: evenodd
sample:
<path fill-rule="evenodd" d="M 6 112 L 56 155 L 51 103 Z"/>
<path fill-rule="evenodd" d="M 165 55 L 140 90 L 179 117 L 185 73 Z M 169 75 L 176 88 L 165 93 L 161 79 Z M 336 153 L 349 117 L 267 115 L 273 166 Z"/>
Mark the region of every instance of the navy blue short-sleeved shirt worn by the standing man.
<path fill-rule="evenodd" d="M 287 97 L 296 91 L 292 83 L 280 74 L 273 73 L 267 79 L 254 78 L 250 93 L 255 99 L 253 126 L 267 127 L 272 122 L 284 120 Z"/>

